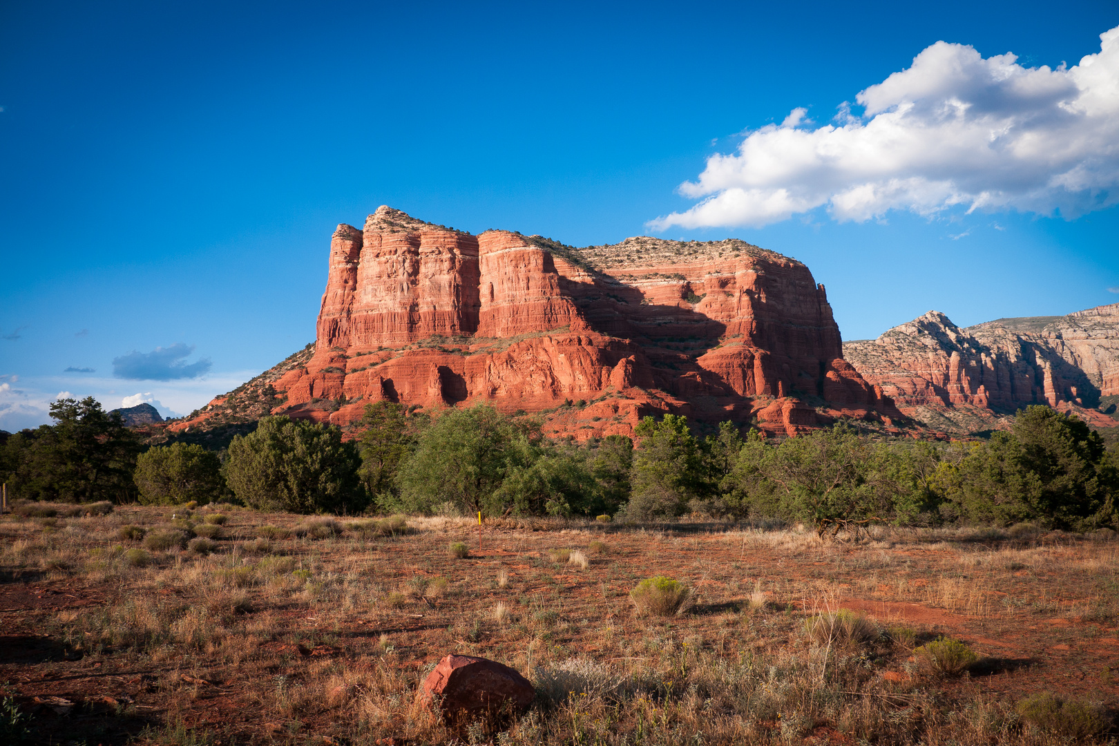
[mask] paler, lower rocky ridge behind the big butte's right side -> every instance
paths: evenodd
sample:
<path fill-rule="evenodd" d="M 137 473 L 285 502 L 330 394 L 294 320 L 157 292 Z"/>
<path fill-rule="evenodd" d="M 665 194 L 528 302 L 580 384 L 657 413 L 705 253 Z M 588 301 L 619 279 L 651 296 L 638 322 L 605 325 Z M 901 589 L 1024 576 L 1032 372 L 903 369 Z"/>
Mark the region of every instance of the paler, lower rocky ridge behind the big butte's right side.
<path fill-rule="evenodd" d="M 847 342 L 844 356 L 902 412 L 939 429 L 990 428 L 1032 404 L 1119 424 L 1106 414 L 1119 397 L 1119 304 L 966 329 L 930 311 Z"/>

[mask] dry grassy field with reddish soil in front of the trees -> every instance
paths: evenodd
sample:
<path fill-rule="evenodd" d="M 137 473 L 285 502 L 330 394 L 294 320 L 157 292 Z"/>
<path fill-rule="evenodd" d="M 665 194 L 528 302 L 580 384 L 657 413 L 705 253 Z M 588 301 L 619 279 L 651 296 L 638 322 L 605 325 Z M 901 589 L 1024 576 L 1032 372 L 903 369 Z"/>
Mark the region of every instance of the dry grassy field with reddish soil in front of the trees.
<path fill-rule="evenodd" d="M 1119 705 L 1110 531 L 22 512 L 0 743 L 1106 743 Z M 639 613 L 651 576 L 679 613 Z M 448 731 L 415 690 L 451 652 L 536 702 Z"/>

